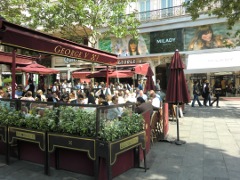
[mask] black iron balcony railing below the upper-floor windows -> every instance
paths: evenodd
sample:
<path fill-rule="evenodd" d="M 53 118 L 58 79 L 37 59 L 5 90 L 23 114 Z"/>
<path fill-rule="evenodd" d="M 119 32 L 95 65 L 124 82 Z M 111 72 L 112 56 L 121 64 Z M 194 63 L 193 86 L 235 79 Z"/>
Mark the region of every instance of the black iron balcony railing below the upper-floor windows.
<path fill-rule="evenodd" d="M 182 16 L 186 14 L 186 8 L 183 6 L 174 6 L 164 9 L 157 9 L 154 11 L 144 11 L 136 14 L 140 22 L 155 21 L 164 18 L 171 18 Z"/>

